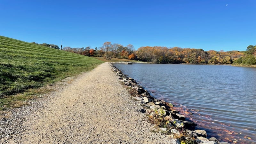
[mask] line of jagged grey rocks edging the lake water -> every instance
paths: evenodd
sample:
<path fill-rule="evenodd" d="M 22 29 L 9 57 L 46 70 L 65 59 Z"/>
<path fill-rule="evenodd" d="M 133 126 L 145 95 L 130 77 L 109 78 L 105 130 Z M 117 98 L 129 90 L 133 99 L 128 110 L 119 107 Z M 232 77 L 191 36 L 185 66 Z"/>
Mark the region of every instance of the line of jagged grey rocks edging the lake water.
<path fill-rule="evenodd" d="M 149 109 L 154 109 L 159 111 L 159 109 L 164 108 L 164 111 L 166 111 L 166 114 L 164 115 L 164 118 L 166 119 L 174 126 L 176 127 L 184 127 L 186 129 L 186 132 L 189 134 L 192 134 L 195 136 L 198 140 L 201 140 L 203 143 L 218 143 L 218 144 L 228 144 L 228 142 L 220 142 L 215 137 L 212 137 L 210 139 L 207 139 L 207 133 L 204 130 L 199 130 L 201 133 L 198 134 L 196 129 L 196 123 L 186 118 L 184 115 L 180 115 L 179 111 L 174 110 L 173 105 L 165 102 L 164 100 L 157 100 L 153 96 L 149 94 L 149 92 L 145 89 L 143 89 L 142 86 L 138 85 L 136 81 L 134 81 L 132 78 L 128 77 L 128 75 L 125 75 L 121 70 L 116 68 L 112 63 L 109 63 L 109 65 L 112 67 L 113 71 L 116 73 L 117 76 L 119 76 L 119 79 L 124 83 L 124 85 L 128 87 L 132 87 L 132 89 L 135 89 L 137 91 L 137 96 L 134 97 L 135 100 L 139 101 L 140 104 L 142 104 L 144 107 L 147 107 Z M 144 100 L 146 99 L 146 101 Z M 148 101 L 148 99 L 151 99 Z M 156 105 L 159 105 L 160 107 Z M 152 103 L 153 102 L 153 103 Z M 162 105 L 162 106 L 161 106 Z M 163 107 L 164 106 L 164 107 Z M 178 124 L 177 124 L 178 122 Z M 205 134 L 202 134 L 205 133 Z"/>

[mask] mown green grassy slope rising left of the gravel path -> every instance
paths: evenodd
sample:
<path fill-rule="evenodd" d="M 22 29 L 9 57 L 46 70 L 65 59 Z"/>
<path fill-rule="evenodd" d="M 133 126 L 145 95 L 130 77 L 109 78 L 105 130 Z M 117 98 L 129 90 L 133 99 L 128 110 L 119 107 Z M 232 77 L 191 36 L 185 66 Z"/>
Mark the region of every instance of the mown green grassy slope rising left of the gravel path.
<path fill-rule="evenodd" d="M 0 107 L 11 95 L 90 71 L 101 60 L 0 36 Z"/>

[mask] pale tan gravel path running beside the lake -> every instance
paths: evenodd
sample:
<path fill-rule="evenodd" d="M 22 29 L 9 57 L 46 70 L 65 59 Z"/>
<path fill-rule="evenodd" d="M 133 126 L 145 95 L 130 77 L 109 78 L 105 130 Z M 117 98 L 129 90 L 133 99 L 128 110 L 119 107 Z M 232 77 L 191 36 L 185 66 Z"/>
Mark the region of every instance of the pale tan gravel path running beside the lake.
<path fill-rule="evenodd" d="M 150 131 L 154 126 L 139 112 L 143 107 L 131 99 L 108 63 L 55 87 L 45 97 L 5 113 L 0 143 L 175 142 Z"/>

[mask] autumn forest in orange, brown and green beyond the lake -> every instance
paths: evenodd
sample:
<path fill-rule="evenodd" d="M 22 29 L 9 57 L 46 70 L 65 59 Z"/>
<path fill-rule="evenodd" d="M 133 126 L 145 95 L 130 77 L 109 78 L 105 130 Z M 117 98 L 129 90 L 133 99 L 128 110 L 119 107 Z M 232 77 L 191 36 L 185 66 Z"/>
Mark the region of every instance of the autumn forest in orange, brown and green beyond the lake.
<path fill-rule="evenodd" d="M 256 45 L 249 45 L 246 51 L 204 51 L 203 49 L 142 46 L 138 50 L 132 44 L 123 46 L 105 42 L 100 48 L 71 48 L 64 47 L 64 51 L 82 54 L 85 56 L 140 60 L 150 63 L 187 63 L 187 64 L 236 64 L 256 65 Z"/>

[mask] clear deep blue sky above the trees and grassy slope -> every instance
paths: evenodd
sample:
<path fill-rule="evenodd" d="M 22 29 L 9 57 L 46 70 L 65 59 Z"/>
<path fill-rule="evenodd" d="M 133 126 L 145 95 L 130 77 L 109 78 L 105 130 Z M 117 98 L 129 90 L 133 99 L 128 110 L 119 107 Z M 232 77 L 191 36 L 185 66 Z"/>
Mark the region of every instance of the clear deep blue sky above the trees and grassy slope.
<path fill-rule="evenodd" d="M 256 45 L 256 0 L 0 0 L 0 35 L 72 48 L 245 51 Z"/>

